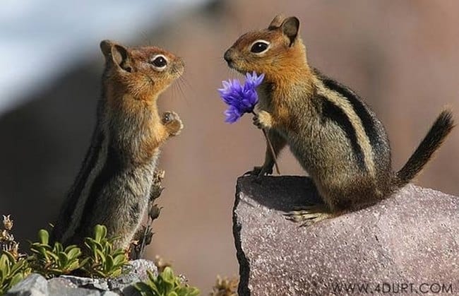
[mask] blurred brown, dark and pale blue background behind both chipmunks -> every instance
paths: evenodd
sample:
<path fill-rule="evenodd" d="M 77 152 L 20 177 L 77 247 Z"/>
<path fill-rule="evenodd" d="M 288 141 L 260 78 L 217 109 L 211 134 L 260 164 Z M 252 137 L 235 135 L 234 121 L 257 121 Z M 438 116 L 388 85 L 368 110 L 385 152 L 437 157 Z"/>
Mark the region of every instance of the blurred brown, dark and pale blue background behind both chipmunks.
<path fill-rule="evenodd" d="M 277 13 L 297 16 L 309 62 L 366 98 L 388 131 L 400 168 L 444 106 L 459 120 L 459 1 L 56 1 L 0 7 L 0 214 L 28 245 L 56 218 L 95 124 L 99 42 L 157 45 L 184 58 L 184 83 L 160 98 L 179 113 L 163 148 L 164 209 L 146 256 L 160 254 L 205 294 L 237 275 L 232 206 L 237 177 L 263 162 L 251 117 L 225 124 L 216 89 L 238 77 L 222 59 Z M 459 195 L 459 130 L 417 184 Z M 282 174 L 304 174 L 285 150 Z"/>

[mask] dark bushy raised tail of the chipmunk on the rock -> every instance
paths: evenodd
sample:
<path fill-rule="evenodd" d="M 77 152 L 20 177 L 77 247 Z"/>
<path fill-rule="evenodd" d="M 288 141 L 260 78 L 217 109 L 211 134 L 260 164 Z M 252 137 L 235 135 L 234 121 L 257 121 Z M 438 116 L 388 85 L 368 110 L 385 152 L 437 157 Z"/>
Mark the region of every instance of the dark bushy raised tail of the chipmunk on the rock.
<path fill-rule="evenodd" d="M 395 174 L 395 187 L 403 187 L 422 170 L 434 152 L 454 127 L 453 114 L 444 110 L 432 124 L 429 132 L 416 148 L 407 163 Z"/>

